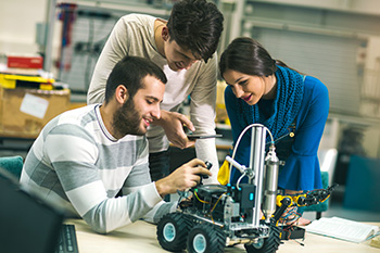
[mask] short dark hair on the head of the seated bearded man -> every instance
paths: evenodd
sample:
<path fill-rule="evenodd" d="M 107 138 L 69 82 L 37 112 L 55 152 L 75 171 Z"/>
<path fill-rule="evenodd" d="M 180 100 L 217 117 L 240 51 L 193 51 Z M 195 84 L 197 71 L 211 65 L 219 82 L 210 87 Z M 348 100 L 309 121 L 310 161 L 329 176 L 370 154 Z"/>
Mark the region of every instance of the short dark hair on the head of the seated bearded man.
<path fill-rule="evenodd" d="M 117 86 L 124 85 L 128 94 L 134 98 L 136 92 L 143 88 L 142 79 L 153 76 L 166 84 L 164 72 L 152 61 L 138 56 L 125 56 L 112 69 L 105 87 L 105 103 L 109 103 Z"/>

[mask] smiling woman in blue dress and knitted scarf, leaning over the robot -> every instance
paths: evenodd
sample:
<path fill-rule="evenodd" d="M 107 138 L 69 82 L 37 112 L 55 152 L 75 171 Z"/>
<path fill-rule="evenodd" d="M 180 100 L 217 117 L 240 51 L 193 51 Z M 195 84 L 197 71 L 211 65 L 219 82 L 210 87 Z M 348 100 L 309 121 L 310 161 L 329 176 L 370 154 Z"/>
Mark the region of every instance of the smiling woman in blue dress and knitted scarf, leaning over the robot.
<path fill-rule="evenodd" d="M 225 102 L 235 143 L 246 126 L 263 124 L 274 136 L 277 155 L 286 161 L 279 188 L 289 194 L 321 188 L 317 151 L 329 113 L 326 86 L 274 60 L 252 38 L 235 39 L 221 54 L 219 71 L 228 85 Z M 250 153 L 248 131 L 235 160 L 248 166 Z M 231 182 L 240 176 L 232 168 Z"/>

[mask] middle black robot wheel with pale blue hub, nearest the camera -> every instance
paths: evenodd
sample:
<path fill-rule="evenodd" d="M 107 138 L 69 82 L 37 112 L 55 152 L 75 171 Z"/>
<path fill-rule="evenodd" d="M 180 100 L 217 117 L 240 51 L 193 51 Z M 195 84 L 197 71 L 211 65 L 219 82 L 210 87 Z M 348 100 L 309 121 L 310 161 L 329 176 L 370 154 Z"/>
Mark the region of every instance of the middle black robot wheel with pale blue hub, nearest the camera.
<path fill-rule="evenodd" d="M 226 235 L 218 226 L 212 224 L 199 224 L 189 232 L 189 253 L 224 252 L 225 246 Z"/>

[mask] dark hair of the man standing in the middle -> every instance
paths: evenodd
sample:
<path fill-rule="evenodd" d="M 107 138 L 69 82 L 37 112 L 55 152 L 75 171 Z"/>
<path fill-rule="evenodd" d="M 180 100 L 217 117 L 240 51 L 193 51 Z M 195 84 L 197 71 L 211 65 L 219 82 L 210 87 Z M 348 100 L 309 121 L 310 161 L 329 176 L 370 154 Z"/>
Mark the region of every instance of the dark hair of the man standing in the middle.
<path fill-rule="evenodd" d="M 167 21 L 170 40 L 205 62 L 216 51 L 223 31 L 223 14 L 206 0 L 181 0 Z"/>

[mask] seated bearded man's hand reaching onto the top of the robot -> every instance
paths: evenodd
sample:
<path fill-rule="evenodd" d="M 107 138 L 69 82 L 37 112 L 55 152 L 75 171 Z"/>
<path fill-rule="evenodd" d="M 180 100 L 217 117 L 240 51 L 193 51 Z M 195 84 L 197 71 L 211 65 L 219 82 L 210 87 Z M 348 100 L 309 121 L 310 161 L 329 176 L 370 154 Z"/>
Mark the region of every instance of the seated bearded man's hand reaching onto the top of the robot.
<path fill-rule="evenodd" d="M 193 159 L 190 162 L 178 167 L 167 177 L 155 182 L 155 187 L 163 198 L 166 194 L 176 193 L 177 190 L 185 191 L 200 184 L 200 175 L 212 176 L 205 163 L 202 160 Z"/>

